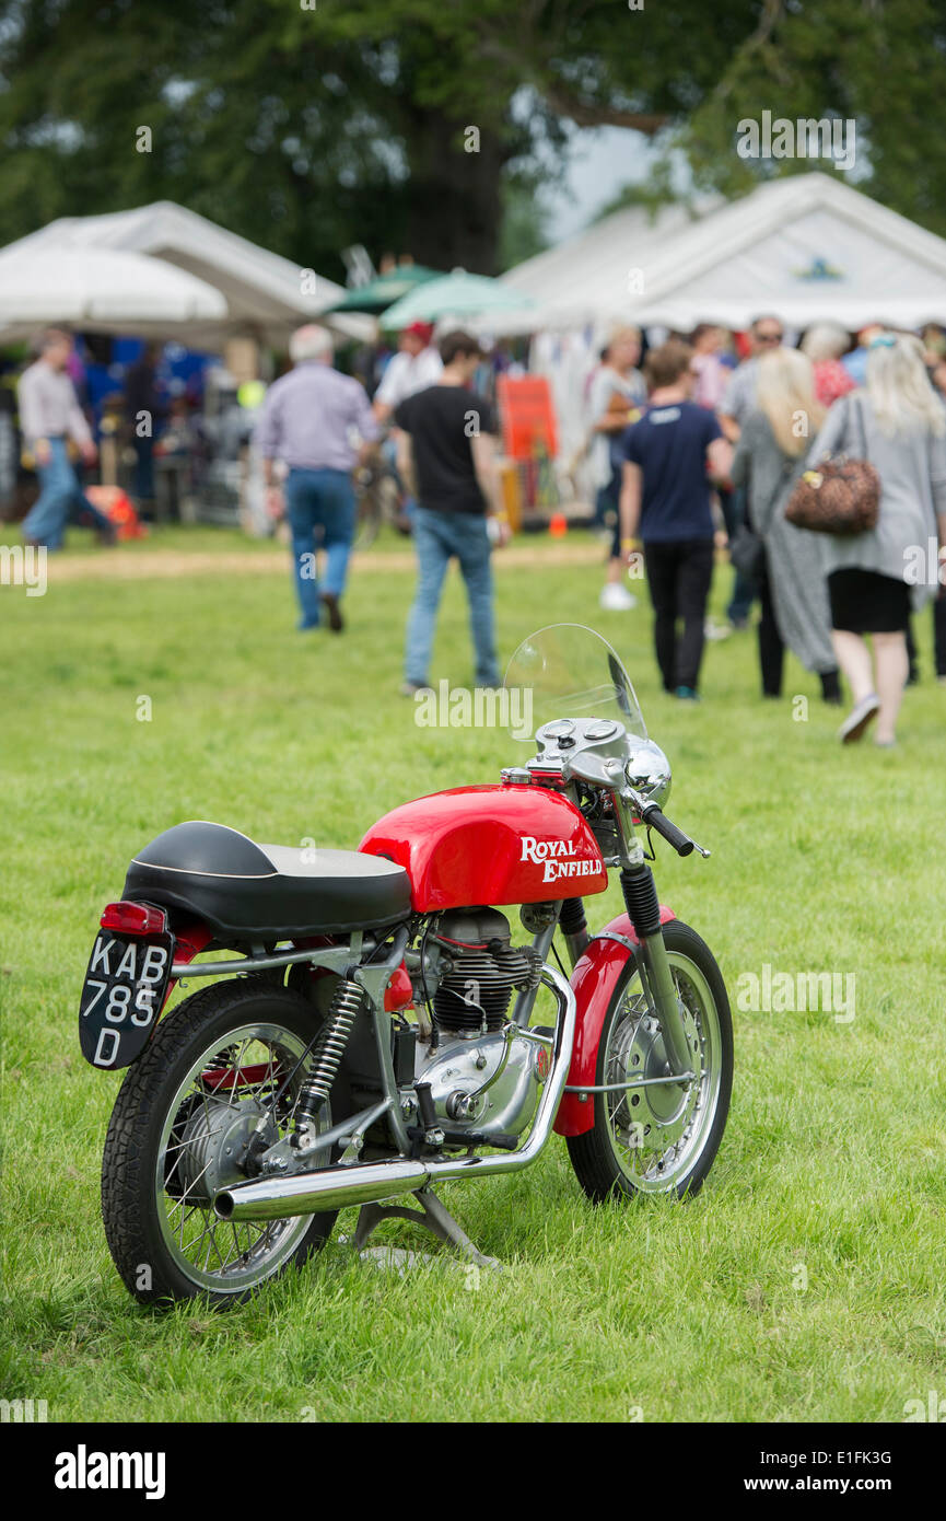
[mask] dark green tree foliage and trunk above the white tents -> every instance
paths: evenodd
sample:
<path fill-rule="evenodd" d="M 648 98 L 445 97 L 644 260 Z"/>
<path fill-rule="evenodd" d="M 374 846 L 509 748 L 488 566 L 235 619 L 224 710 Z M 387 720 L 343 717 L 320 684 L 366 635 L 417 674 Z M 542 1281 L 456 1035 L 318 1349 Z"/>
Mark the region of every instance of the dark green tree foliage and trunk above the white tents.
<path fill-rule="evenodd" d="M 858 183 L 946 231 L 946 0 L 307 3 L 8 0 L 0 242 L 169 198 L 336 277 L 351 242 L 490 271 L 563 122 L 739 192 L 812 167 L 736 155 L 763 110 L 856 119 Z"/>

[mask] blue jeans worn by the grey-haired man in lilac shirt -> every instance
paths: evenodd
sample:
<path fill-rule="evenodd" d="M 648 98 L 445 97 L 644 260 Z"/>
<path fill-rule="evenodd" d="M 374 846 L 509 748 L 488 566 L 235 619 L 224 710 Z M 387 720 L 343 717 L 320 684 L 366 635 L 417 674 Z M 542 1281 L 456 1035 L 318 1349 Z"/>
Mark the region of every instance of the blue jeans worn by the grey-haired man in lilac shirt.
<path fill-rule="evenodd" d="M 295 589 L 300 599 L 300 628 L 315 628 L 319 621 L 319 592 L 341 596 L 354 537 L 354 487 L 347 470 L 290 470 L 286 481 L 286 511 L 292 529 Z M 321 534 L 316 531 L 321 529 Z M 325 551 L 325 576 L 319 586 L 315 555 Z"/>

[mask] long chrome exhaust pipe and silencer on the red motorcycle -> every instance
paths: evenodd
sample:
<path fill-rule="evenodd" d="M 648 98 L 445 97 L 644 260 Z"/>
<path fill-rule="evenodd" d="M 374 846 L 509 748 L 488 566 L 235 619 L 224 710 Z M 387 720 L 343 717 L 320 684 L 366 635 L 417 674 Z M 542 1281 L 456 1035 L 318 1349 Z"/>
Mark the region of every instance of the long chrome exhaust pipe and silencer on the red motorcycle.
<path fill-rule="evenodd" d="M 529 1167 L 552 1133 L 552 1124 L 564 1094 L 575 1043 L 575 993 L 555 967 L 543 966 L 541 981 L 555 995 L 558 1021 L 555 1025 L 555 1057 L 529 1139 L 519 1151 L 506 1156 L 424 1157 L 392 1162 L 356 1162 L 351 1167 L 327 1167 L 297 1177 L 265 1177 L 252 1183 L 237 1183 L 214 1199 L 221 1220 L 287 1220 L 319 1211 L 347 1209 L 350 1205 L 376 1205 L 397 1194 L 412 1194 L 429 1183 L 461 1177 L 493 1177 L 496 1173 L 517 1173 Z"/>

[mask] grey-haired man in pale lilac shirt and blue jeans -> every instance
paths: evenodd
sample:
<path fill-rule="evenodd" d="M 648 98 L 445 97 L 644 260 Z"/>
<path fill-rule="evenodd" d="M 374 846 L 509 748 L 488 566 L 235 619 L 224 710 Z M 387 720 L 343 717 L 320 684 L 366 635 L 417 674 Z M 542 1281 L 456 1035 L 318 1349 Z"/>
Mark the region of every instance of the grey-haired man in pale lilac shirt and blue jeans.
<path fill-rule="evenodd" d="M 310 324 L 289 341 L 294 370 L 271 385 L 252 444 L 263 461 L 272 517 L 289 517 L 301 630 L 318 628 L 321 610 L 333 633 L 344 628 L 341 599 L 354 537 L 351 472 L 379 437 L 360 380 L 332 368 L 332 335 Z M 360 449 L 351 438 L 357 435 Z M 275 465 L 287 467 L 284 491 Z M 325 575 L 316 580 L 318 551 Z"/>

